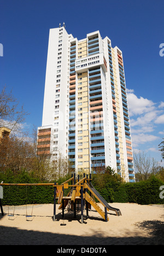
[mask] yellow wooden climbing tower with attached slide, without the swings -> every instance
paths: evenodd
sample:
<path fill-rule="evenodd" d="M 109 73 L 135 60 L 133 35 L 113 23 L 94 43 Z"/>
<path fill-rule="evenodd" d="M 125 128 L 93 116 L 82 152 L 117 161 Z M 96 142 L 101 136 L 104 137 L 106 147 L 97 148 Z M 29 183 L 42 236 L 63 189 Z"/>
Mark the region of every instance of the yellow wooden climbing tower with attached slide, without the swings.
<path fill-rule="evenodd" d="M 118 208 L 111 207 L 106 200 L 98 193 L 98 191 L 93 187 L 91 183 L 90 176 L 83 175 L 84 177 L 79 180 L 76 179 L 75 173 L 72 174 L 72 178 L 63 182 L 61 185 L 54 184 L 54 221 L 56 218 L 56 199 L 57 203 L 60 204 L 59 209 L 62 209 L 62 217 L 65 217 L 65 208 L 74 211 L 74 217 L 76 217 L 76 212 L 81 208 L 81 223 L 83 223 L 84 211 L 86 210 L 86 217 L 89 216 L 89 209 L 91 206 L 101 215 L 101 217 L 107 222 L 109 220 L 107 216 L 107 211 L 114 211 L 117 216 L 121 216 L 121 212 Z M 69 184 L 71 182 L 71 184 Z M 68 190 L 66 195 L 65 190 Z M 65 196 L 66 195 L 66 196 Z M 95 198 L 104 207 L 104 211 L 98 206 Z"/>

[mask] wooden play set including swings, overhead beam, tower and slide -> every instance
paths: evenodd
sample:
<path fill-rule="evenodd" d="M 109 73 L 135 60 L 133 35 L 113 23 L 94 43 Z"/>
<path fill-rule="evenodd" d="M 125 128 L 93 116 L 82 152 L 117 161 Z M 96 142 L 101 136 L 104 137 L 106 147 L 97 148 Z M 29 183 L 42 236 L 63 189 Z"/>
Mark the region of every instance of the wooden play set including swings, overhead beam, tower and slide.
<path fill-rule="evenodd" d="M 89 217 L 89 210 L 91 210 L 91 206 L 95 208 L 95 210 L 100 214 L 100 216 L 105 220 L 105 222 L 108 222 L 108 214 L 107 211 L 114 211 L 116 213 L 116 216 L 121 216 L 121 212 L 118 208 L 114 208 L 108 204 L 106 200 L 103 199 L 101 194 L 98 193 L 98 191 L 93 187 L 91 183 L 91 174 L 85 175 L 83 174 L 83 178 L 79 179 L 76 177 L 76 174 L 72 174 L 72 177 L 68 179 L 67 181 L 63 182 L 62 184 L 58 185 L 55 183 L 20 183 L 20 184 L 13 184 L 13 183 L 2 183 L 2 186 L 26 186 L 26 202 L 27 202 L 27 187 L 28 186 L 52 186 L 54 188 L 54 216 L 53 221 L 56 221 L 56 201 L 60 205 L 58 209 L 62 209 L 62 219 L 63 224 L 65 220 L 65 208 L 67 207 L 68 211 L 74 212 L 74 218 L 77 218 L 77 212 L 81 212 L 81 224 L 84 223 L 84 218 Z M 70 184 L 71 183 L 71 184 Z M 69 190 L 69 191 L 68 191 Z M 17 192 L 16 192 L 17 193 Z M 1 199 L 1 197 L 0 197 Z M 102 210 L 102 207 L 99 207 L 97 204 L 97 201 L 101 203 L 101 206 L 104 207 L 104 211 Z M 33 203 L 34 205 L 34 203 Z M 0 206 L 1 206 L 1 212 L 3 215 L 3 208 L 2 203 L 0 200 Z M 84 217 L 84 212 L 86 210 L 86 216 Z M 14 217 L 15 214 L 15 206 L 13 214 L 9 213 L 8 209 L 8 216 Z M 30 215 L 27 214 L 27 203 L 26 203 L 26 220 L 29 220 L 29 218 L 33 217 L 33 206 L 32 206 L 32 212 Z"/>

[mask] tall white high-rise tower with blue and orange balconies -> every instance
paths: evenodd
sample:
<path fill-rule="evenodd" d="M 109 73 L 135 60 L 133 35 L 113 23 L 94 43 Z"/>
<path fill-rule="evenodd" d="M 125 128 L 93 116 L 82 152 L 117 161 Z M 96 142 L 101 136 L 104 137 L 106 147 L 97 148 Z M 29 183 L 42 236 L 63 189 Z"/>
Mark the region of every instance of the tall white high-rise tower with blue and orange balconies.
<path fill-rule="evenodd" d="M 50 29 L 38 154 L 68 156 L 76 171 L 110 166 L 134 182 L 122 51 L 99 31 L 78 40 Z"/>

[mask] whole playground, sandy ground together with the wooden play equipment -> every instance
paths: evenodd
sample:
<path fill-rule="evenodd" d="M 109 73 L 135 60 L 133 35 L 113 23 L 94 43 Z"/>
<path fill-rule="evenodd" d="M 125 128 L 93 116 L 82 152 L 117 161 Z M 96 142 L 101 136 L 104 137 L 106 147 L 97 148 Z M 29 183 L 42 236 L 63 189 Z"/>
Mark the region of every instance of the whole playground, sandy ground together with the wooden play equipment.
<path fill-rule="evenodd" d="M 91 181 L 47 184 L 54 204 L 1 205 L 0 245 L 164 245 L 163 205 L 109 204 Z M 2 200 L 5 185 L 42 184 L 0 184 Z"/>

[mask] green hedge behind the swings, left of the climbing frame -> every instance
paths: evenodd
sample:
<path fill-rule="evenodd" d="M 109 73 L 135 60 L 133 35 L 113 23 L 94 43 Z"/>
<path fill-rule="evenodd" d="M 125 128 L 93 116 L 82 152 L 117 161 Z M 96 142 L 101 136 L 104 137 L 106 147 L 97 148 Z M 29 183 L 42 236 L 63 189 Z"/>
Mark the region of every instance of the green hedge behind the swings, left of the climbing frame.
<path fill-rule="evenodd" d="M 26 171 L 16 176 L 13 172 L 0 172 L 0 183 L 39 183 Z M 54 188 L 51 186 L 3 186 L 3 205 L 26 205 L 33 203 L 53 203 Z"/>

